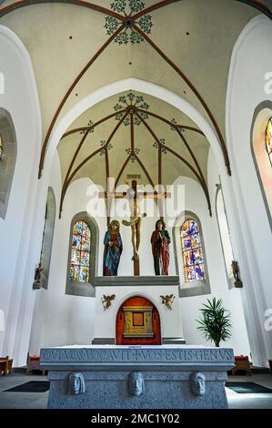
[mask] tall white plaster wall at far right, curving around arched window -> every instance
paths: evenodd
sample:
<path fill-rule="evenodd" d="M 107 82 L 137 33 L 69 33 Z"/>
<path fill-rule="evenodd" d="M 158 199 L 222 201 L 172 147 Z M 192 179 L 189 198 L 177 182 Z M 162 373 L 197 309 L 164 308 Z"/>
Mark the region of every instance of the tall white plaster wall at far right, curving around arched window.
<path fill-rule="evenodd" d="M 265 311 L 272 307 L 272 235 L 251 153 L 250 131 L 256 107 L 272 94 L 265 91 L 272 71 L 271 21 L 257 16 L 244 28 L 234 48 L 227 87 L 227 146 L 233 192 L 227 208 L 234 246 L 245 287 L 241 291 L 254 362 L 266 365 L 272 352 L 272 332 Z M 271 92 L 271 91 L 270 91 Z"/>

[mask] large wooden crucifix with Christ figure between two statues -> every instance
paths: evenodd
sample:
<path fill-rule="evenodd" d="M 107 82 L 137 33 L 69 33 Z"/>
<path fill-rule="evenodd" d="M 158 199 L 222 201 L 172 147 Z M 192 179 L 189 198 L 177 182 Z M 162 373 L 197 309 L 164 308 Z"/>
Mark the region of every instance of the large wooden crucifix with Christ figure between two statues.
<path fill-rule="evenodd" d="M 131 180 L 131 186 L 128 187 L 126 192 L 99 192 L 99 198 L 105 198 L 108 202 L 112 199 L 123 199 L 128 200 L 130 209 L 130 219 L 123 220 L 124 226 L 131 227 L 131 241 L 133 247 L 132 260 L 134 263 L 134 276 L 140 275 L 140 260 L 139 260 L 139 247 L 141 239 L 141 219 L 146 217 L 146 213 L 140 212 L 140 204 L 143 199 L 166 199 L 170 198 L 171 194 L 167 192 L 144 192 L 140 189 L 136 179 Z"/>

